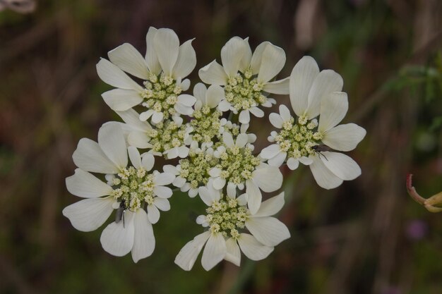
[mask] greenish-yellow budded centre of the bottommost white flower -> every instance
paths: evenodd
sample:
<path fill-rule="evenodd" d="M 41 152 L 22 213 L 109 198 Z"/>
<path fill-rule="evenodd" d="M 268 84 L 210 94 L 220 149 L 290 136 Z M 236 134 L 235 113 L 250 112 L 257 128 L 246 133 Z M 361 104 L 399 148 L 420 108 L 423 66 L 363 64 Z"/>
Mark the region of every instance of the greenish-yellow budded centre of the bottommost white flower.
<path fill-rule="evenodd" d="M 205 209 L 205 219 L 212 233 L 222 233 L 225 238 L 237 239 L 239 231 L 244 229 L 247 220 L 247 209 L 236 199 L 227 197 Z"/>

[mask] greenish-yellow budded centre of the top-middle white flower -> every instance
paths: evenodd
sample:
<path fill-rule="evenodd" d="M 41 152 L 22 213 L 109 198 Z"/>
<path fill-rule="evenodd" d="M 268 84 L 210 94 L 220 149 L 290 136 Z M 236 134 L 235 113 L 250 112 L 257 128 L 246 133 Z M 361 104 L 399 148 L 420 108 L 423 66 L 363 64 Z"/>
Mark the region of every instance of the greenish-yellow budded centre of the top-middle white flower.
<path fill-rule="evenodd" d="M 256 75 L 251 70 L 238 72 L 227 80 L 225 97 L 236 111 L 250 109 L 253 106 L 264 104 L 267 97 L 263 94 L 263 84 L 258 82 Z"/>

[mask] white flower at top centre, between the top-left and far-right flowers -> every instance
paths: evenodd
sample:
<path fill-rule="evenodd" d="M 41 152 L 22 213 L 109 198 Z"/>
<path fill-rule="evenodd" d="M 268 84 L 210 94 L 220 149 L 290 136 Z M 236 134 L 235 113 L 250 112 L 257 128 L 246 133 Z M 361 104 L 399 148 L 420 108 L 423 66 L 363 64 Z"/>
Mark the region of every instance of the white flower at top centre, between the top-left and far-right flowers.
<path fill-rule="evenodd" d="M 270 82 L 285 64 L 285 52 L 270 42 L 263 42 L 251 52 L 248 39 L 233 37 L 221 49 L 222 66 L 212 61 L 198 72 L 206 84 L 225 87 L 221 111 L 239 112 L 239 122 L 249 123 L 250 113 L 263 117 L 258 106 L 270 107 L 274 99 L 267 93 L 288 94 L 289 80 Z"/>

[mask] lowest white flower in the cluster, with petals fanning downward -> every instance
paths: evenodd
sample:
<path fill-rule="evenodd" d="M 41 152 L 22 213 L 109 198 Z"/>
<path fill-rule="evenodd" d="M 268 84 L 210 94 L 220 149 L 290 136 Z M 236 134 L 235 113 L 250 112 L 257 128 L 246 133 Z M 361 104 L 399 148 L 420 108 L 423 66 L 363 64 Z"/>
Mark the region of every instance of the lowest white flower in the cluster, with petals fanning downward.
<path fill-rule="evenodd" d="M 239 266 L 241 251 L 249 259 L 264 259 L 276 245 L 290 238 L 287 226 L 272 217 L 284 205 L 284 192 L 266 200 L 256 214 L 251 214 L 244 206 L 245 195 L 237 199 L 222 198 L 219 191 L 200 190 L 208 209 L 207 214 L 198 216 L 197 223 L 209 230 L 197 235 L 180 250 L 175 263 L 181 269 L 192 269 L 204 245 L 201 264 L 208 271 L 222 259 Z"/>

